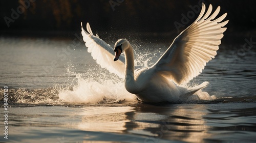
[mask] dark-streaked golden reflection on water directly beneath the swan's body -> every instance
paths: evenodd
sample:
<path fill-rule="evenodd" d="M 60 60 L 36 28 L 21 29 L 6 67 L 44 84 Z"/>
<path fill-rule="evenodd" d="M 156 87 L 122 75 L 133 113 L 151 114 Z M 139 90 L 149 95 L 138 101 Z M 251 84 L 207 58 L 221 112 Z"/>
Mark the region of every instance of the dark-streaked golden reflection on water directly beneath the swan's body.
<path fill-rule="evenodd" d="M 156 109 L 157 112 L 155 113 L 147 113 L 146 111 L 144 112 L 143 108 L 140 108 L 144 115 L 136 115 L 134 117 L 138 120 L 141 117 L 150 120 L 137 123 L 140 127 L 136 129 L 141 130 L 144 128 L 144 131 L 150 131 L 157 136 L 148 137 L 145 142 L 157 142 L 158 139 L 202 142 L 204 138 L 209 138 L 209 127 L 206 126 L 205 120 L 203 120 L 203 117 L 207 115 L 207 110 L 202 110 L 205 108 L 202 107 L 204 105 L 191 104 L 190 109 L 182 108 L 181 106 L 177 105 L 175 108 L 170 107 L 169 109 L 164 108 L 164 110 L 159 107 L 159 110 Z M 156 106 L 156 108 L 158 107 Z M 155 121 L 152 122 L 152 120 Z"/>

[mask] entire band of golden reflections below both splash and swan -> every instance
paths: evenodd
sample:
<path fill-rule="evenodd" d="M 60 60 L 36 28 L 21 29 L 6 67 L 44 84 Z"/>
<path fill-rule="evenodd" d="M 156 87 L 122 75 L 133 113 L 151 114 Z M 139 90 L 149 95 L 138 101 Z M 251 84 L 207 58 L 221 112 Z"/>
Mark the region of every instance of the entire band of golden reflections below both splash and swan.
<path fill-rule="evenodd" d="M 132 133 L 145 136 L 145 142 L 159 139 L 202 142 L 210 138 L 210 127 L 203 117 L 206 105 L 188 104 L 162 107 L 144 104 L 120 107 L 84 107 L 78 112 L 80 130 Z M 191 107 L 189 107 L 191 106 Z"/>

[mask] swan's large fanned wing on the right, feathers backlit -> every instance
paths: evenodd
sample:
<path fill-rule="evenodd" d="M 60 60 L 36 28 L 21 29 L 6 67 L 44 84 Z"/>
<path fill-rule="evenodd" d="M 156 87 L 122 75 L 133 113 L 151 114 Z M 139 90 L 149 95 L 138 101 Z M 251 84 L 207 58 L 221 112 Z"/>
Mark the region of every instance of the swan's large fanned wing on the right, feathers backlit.
<path fill-rule="evenodd" d="M 227 13 L 216 18 L 220 7 L 211 15 L 212 6 L 209 6 L 206 13 L 205 9 L 205 5 L 202 4 L 196 21 L 175 38 L 172 45 L 153 65 L 157 74 L 181 84 L 198 76 L 206 63 L 215 58 L 223 32 L 226 31 L 226 27 L 223 26 L 228 23 L 228 20 L 221 21 Z"/>

